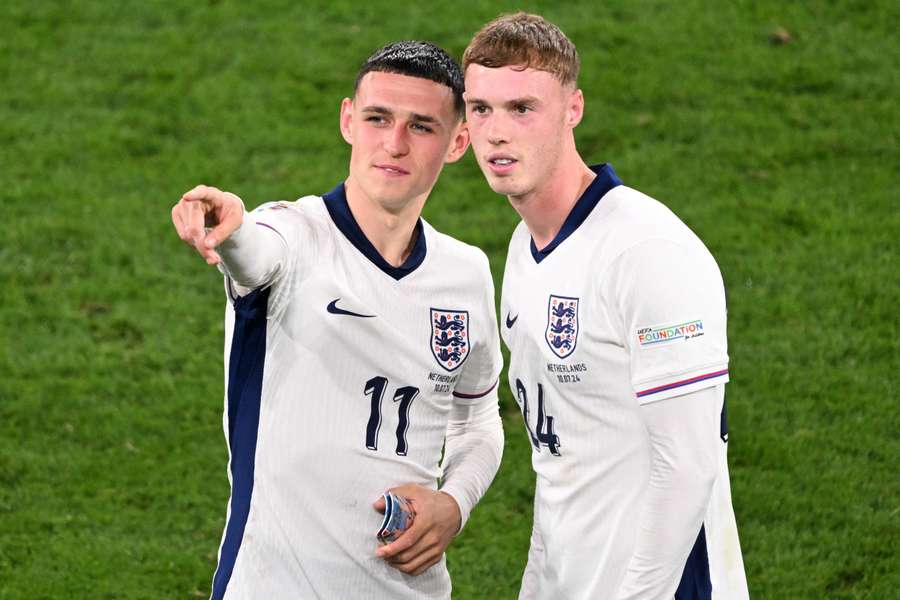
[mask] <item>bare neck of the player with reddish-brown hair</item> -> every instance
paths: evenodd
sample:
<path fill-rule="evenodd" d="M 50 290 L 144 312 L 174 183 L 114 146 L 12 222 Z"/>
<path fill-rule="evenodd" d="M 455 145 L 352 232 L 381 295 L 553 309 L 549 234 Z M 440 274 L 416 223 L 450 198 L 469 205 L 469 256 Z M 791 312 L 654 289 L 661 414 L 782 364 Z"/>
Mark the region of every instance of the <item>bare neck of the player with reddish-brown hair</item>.
<path fill-rule="evenodd" d="M 553 241 L 578 198 L 597 176 L 577 152 L 573 154 L 559 162 L 543 186 L 522 196 L 509 196 L 538 249 Z"/>

